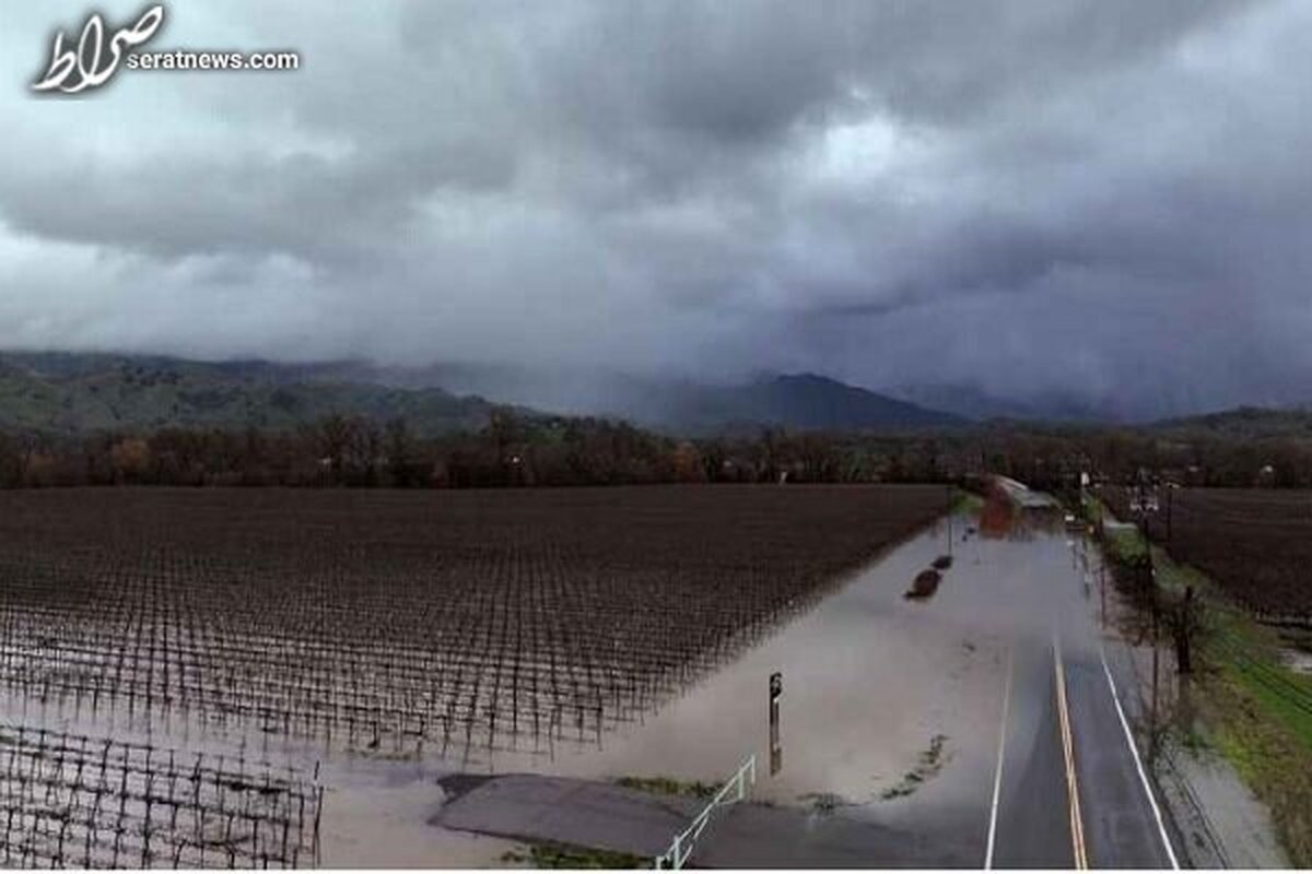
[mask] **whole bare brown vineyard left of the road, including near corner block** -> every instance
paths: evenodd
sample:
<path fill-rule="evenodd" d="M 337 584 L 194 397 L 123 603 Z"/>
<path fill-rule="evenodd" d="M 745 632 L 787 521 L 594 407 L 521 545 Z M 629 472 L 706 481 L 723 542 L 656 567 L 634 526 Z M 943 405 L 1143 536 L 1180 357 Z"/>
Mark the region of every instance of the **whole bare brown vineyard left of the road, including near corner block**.
<path fill-rule="evenodd" d="M 947 497 L 3 494 L 0 781 L 26 811 L 7 862 L 311 864 L 315 759 L 488 767 L 600 746 Z M 327 816 L 350 803 L 332 789 Z"/>

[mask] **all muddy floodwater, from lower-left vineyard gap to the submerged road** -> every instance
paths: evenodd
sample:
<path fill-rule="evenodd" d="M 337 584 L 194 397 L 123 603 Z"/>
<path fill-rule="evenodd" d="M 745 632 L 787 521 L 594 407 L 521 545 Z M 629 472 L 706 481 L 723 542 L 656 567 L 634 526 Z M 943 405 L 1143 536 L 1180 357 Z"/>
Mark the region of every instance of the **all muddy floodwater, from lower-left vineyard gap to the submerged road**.
<path fill-rule="evenodd" d="M 429 824 L 443 801 L 443 773 L 714 782 L 749 755 L 757 759 L 757 801 L 890 824 L 933 819 L 983 843 L 1018 645 L 1096 634 L 1102 592 L 1080 554 L 1064 531 L 1008 508 L 942 519 L 656 713 L 550 755 L 495 752 L 471 765 L 327 753 L 286 739 L 270 750 L 268 738 L 260 752 L 321 768 L 320 861 L 333 867 L 504 865 L 512 843 Z M 916 575 L 943 556 L 951 565 L 933 595 L 905 598 Z M 783 691 L 771 751 L 775 672 Z M 1010 706 L 1010 719 L 1023 725 L 1026 697 Z M 59 722 L 94 731 L 77 719 Z M 169 734 L 189 750 L 222 748 L 190 726 Z M 169 743 L 159 731 L 154 740 Z"/>

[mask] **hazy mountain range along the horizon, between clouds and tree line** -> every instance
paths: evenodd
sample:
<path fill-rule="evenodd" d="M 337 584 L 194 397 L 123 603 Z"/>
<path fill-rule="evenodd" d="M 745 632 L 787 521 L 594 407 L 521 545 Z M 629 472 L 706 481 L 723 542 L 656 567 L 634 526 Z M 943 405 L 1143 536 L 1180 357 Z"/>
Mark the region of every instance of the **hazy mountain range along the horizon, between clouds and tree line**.
<path fill-rule="evenodd" d="M 1015 401 L 928 385 L 872 392 L 815 373 L 766 373 L 702 384 L 512 366 L 384 367 L 341 360 L 264 360 L 79 352 L 0 352 L 0 428 L 54 434 L 181 427 L 295 428 L 333 413 L 403 417 L 420 435 L 483 427 L 499 405 L 522 415 L 622 418 L 706 436 L 762 426 L 812 431 L 955 428 L 980 421 L 1117 423 L 1106 405 L 1075 397 Z M 1305 410 L 1245 408 L 1170 419 L 1162 430 L 1307 434 Z"/>

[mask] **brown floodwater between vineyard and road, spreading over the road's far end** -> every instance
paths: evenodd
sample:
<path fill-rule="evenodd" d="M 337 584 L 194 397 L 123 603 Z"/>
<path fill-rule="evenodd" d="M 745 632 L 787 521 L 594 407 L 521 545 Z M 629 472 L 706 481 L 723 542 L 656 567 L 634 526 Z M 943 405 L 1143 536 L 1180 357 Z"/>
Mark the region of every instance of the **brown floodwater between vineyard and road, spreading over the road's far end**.
<path fill-rule="evenodd" d="M 1009 655 L 1017 646 L 1046 651 L 1055 629 L 1086 633 L 1099 599 L 1059 527 L 997 519 L 964 540 L 967 516 L 911 537 L 594 747 L 563 747 L 550 761 L 502 753 L 487 768 L 714 784 L 756 753 L 756 799 L 908 829 L 933 822 L 945 840 L 983 852 Z M 946 554 L 951 562 L 937 561 Z M 907 580 L 935 562 L 950 567 L 934 598 L 908 600 Z M 773 672 L 783 681 L 775 773 L 765 767 Z M 1050 688 L 1018 693 L 1013 718 L 1026 719 L 1039 706 L 1030 697 L 1046 700 Z"/>

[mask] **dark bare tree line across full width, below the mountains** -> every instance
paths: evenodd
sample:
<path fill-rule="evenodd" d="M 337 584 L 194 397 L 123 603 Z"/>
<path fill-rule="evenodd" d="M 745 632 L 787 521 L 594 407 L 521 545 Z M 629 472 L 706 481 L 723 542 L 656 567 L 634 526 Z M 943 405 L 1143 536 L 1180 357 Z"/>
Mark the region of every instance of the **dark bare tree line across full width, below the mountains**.
<path fill-rule="evenodd" d="M 508 487 L 653 482 L 960 482 L 1001 473 L 1060 490 L 1081 472 L 1191 486 L 1312 487 L 1312 440 L 1151 428 L 987 425 L 890 434 L 768 427 L 685 439 L 626 422 L 496 408 L 484 427 L 417 435 L 329 415 L 293 431 L 0 434 L 0 487 L 79 485 Z"/>

